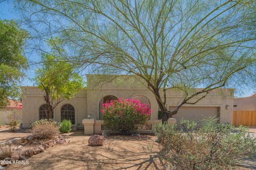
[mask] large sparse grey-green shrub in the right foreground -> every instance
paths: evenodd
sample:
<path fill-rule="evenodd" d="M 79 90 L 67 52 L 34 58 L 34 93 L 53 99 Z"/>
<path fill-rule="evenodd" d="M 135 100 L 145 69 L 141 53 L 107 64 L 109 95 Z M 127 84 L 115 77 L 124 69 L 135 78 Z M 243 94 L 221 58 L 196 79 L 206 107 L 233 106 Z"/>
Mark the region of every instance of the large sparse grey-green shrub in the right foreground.
<path fill-rule="evenodd" d="M 170 169 L 230 169 L 235 162 L 255 153 L 255 138 L 243 126 L 219 124 L 216 119 L 157 124 L 161 155 Z"/>

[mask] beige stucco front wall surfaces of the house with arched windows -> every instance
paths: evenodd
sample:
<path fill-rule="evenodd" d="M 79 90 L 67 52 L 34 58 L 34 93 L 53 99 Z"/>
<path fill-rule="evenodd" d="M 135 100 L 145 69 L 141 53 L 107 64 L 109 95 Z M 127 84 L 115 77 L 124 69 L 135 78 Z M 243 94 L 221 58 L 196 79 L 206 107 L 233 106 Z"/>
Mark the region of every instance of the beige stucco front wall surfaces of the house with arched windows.
<path fill-rule="evenodd" d="M 140 79 L 124 75 L 115 79 L 113 79 L 111 75 L 86 75 L 86 77 L 87 90 L 81 91 L 73 99 L 62 101 L 55 109 L 55 120 L 61 120 L 61 106 L 67 103 L 75 107 L 76 126 L 83 126 L 82 120 L 83 118 L 87 118 L 87 114 L 91 114 L 92 118 L 99 120 L 100 100 L 107 95 L 114 95 L 117 98 L 144 96 L 150 101 L 150 107 L 153 110 L 151 120 L 157 119 L 159 108 L 155 96 L 143 85 L 143 81 L 141 82 Z M 111 80 L 111 82 L 109 80 Z M 37 87 L 22 87 L 22 91 L 24 94 L 22 98 L 22 122 L 23 127 L 27 128 L 30 123 L 38 120 L 39 107 L 44 104 L 43 91 L 39 90 Z M 182 97 L 183 94 L 181 91 L 175 89 L 169 90 L 166 94 L 167 108 L 177 106 Z M 191 102 L 198 99 L 198 97 L 191 100 Z M 199 101 L 196 105 L 185 106 L 218 107 L 220 111 L 220 122 L 231 123 L 233 103 L 233 89 L 221 89 L 210 92 L 206 98 Z M 226 105 L 230 105 L 230 109 L 226 109 Z"/>

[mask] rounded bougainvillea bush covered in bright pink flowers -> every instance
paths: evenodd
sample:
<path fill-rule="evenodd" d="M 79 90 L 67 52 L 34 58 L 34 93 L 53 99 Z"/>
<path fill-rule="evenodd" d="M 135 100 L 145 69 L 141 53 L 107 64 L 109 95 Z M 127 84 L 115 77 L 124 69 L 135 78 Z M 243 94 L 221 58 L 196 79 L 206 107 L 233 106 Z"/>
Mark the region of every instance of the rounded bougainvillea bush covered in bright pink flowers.
<path fill-rule="evenodd" d="M 102 105 L 102 118 L 106 126 L 123 134 L 131 134 L 149 119 L 149 105 L 136 99 L 110 100 Z"/>

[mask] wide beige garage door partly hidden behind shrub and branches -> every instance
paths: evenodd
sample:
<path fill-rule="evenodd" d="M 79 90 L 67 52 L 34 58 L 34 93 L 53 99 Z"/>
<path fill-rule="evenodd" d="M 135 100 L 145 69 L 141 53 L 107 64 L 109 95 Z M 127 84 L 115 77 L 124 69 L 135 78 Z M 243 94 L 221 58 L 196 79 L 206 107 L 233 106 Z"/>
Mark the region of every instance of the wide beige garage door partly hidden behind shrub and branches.
<path fill-rule="evenodd" d="M 175 107 L 170 107 L 173 111 Z M 181 107 L 173 118 L 176 118 L 177 123 L 183 118 L 184 120 L 201 121 L 203 118 L 218 117 L 218 107 Z"/>

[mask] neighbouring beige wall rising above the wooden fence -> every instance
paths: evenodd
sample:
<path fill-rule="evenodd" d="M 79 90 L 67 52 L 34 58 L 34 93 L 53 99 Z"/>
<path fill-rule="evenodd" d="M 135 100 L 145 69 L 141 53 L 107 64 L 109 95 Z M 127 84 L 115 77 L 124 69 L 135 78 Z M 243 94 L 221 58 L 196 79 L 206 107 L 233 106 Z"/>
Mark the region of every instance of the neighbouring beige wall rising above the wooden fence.
<path fill-rule="evenodd" d="M 256 96 L 235 98 L 234 111 L 256 111 Z"/>

